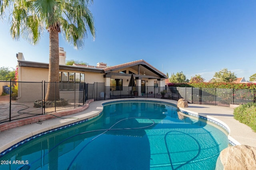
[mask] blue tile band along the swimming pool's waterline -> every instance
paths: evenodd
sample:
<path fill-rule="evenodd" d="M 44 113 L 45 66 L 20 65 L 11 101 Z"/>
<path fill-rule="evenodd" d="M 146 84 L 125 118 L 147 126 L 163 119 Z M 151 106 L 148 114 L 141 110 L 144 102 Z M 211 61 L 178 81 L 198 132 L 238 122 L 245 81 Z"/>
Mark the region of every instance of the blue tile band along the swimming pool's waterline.
<path fill-rule="evenodd" d="M 170 103 L 170 102 L 158 101 L 158 100 L 116 100 L 116 101 L 110 101 L 110 102 L 102 103 L 102 106 L 104 106 L 104 105 L 106 105 L 106 104 L 117 103 L 117 102 L 154 102 L 154 103 L 168 104 L 168 105 L 172 105 L 172 106 L 177 107 L 176 104 L 173 104 L 173 103 Z M 179 110 L 179 111 L 181 111 L 182 113 L 184 113 L 184 114 L 186 114 L 186 115 L 191 115 L 191 116 L 193 116 L 193 117 L 198 117 L 198 118 L 200 118 L 200 119 L 203 119 L 203 120 L 206 120 L 206 121 L 210 121 L 210 122 L 212 122 L 212 123 L 218 125 L 218 126 L 221 127 L 222 129 L 224 129 L 224 130 L 229 134 L 228 128 L 227 128 L 225 125 L 223 125 L 222 123 L 220 123 L 220 122 L 218 122 L 218 121 L 216 121 L 216 120 L 214 120 L 214 119 L 210 119 L 210 118 L 207 118 L 207 117 L 204 117 L 204 116 L 200 116 L 200 115 L 197 115 L 197 114 L 194 114 L 194 113 L 189 113 L 189 112 L 187 112 L 187 111 L 182 111 L 182 110 Z M 20 141 L 20 142 L 18 142 L 18 143 L 16 143 L 16 144 L 14 144 L 14 145 L 12 145 L 12 146 L 9 147 L 8 149 L 2 151 L 2 152 L 0 153 L 0 158 L 1 158 L 2 156 L 4 156 L 5 154 L 7 154 L 8 152 L 12 151 L 13 149 L 15 149 L 15 148 L 17 148 L 17 147 L 19 147 L 19 146 L 21 146 L 21 145 L 27 143 L 28 141 L 31 141 L 31 140 L 33 140 L 33 139 L 36 139 L 36 138 L 38 138 L 38 137 L 41 137 L 41 136 L 43 136 L 43 135 L 46 135 L 46 134 L 49 134 L 49 133 L 52 133 L 52 132 L 55 132 L 55 131 L 58 131 L 58 130 L 61 130 L 61 129 L 64 129 L 64 128 L 66 128 L 66 127 L 71 127 L 71 126 L 78 125 L 78 124 L 80 124 L 80 123 L 84 123 L 84 122 L 86 122 L 86 121 L 95 119 L 96 117 L 100 116 L 101 114 L 102 114 L 102 112 L 101 112 L 99 115 L 94 116 L 94 117 L 91 117 L 91 118 L 89 118 L 89 119 L 84 119 L 84 120 L 81 120 L 81 121 L 77 121 L 77 122 L 75 122 L 75 123 L 70 123 L 70 124 L 68 124 L 68 125 L 64 125 L 64 126 L 61 126 L 61 127 L 57 127 L 57 128 L 54 128 L 54 129 L 51 129 L 51 130 L 48 130 L 48 131 L 44 131 L 44 132 L 42 132 L 42 133 L 38 133 L 37 135 L 33 135 L 33 136 L 31 136 L 31 137 L 28 137 L 27 139 L 24 139 L 24 140 L 22 140 L 22 141 Z M 232 145 L 232 146 L 235 146 L 235 145 L 236 145 L 236 144 L 235 144 L 233 141 L 231 141 L 230 139 L 228 140 L 228 143 L 229 143 L 230 145 Z"/>

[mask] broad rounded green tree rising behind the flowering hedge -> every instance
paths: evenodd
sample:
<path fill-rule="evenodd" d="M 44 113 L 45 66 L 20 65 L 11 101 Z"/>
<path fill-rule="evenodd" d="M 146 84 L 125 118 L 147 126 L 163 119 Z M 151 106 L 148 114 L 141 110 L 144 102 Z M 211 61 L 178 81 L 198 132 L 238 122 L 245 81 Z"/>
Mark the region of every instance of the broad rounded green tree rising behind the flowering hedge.
<path fill-rule="evenodd" d="M 223 68 L 219 72 L 215 72 L 213 82 L 234 82 L 237 77 L 234 72 L 228 71 L 227 68 Z"/>

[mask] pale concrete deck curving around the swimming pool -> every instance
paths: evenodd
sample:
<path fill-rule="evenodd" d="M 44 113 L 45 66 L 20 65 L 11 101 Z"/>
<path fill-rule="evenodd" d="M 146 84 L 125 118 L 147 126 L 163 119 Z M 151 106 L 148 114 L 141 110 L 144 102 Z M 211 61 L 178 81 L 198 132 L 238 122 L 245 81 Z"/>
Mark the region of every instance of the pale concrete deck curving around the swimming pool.
<path fill-rule="evenodd" d="M 120 99 L 118 99 L 120 100 Z M 90 103 L 89 107 L 84 111 L 79 113 L 74 113 L 72 115 L 64 116 L 63 118 L 54 118 L 48 119 L 45 121 L 40 121 L 37 123 L 32 123 L 29 125 L 24 125 L 22 127 L 16 127 L 14 129 L 9 129 L 6 131 L 0 132 L 0 153 L 4 150 L 12 147 L 16 143 L 32 137 L 38 133 L 48 131 L 57 127 L 75 123 L 90 117 L 98 115 L 102 109 L 102 103 L 118 101 L 118 100 L 104 100 L 96 101 Z M 132 99 L 121 99 L 121 100 L 132 100 Z M 169 102 L 177 104 L 177 101 L 174 100 L 164 100 L 164 99 L 152 99 L 152 98 L 143 98 L 135 100 L 156 100 L 162 102 Z M 239 121 L 233 118 L 233 108 L 230 107 L 219 107 L 219 106 L 208 106 L 208 105 L 197 105 L 197 104 L 188 104 L 186 108 L 180 108 L 182 111 L 189 113 L 194 113 L 202 115 L 208 118 L 214 118 L 220 120 L 221 123 L 226 124 L 230 130 L 229 139 L 234 139 L 234 143 L 240 143 L 241 145 L 249 145 L 256 147 L 256 133 L 252 131 L 250 127 L 240 123 Z M 237 142 L 236 142 L 237 141 Z"/>

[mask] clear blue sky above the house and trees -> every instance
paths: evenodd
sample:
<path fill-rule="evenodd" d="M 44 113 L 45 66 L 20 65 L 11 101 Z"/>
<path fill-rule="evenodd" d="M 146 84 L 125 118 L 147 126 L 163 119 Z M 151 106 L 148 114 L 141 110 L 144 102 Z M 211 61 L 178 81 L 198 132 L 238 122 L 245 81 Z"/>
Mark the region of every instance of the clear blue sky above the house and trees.
<path fill-rule="evenodd" d="M 60 35 L 67 60 L 108 66 L 144 59 L 169 76 L 183 72 L 208 80 L 228 68 L 249 80 L 256 73 L 255 0 L 94 0 L 96 39 L 88 33 L 76 51 Z M 8 19 L 0 21 L 0 67 L 15 68 L 16 53 L 48 63 L 45 31 L 36 46 L 12 40 Z"/>

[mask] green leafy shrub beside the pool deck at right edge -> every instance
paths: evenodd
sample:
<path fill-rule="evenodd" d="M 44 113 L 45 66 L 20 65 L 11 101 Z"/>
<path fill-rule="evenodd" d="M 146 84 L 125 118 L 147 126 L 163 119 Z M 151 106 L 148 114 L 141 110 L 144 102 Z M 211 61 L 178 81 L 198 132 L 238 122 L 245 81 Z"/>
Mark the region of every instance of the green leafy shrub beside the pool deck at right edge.
<path fill-rule="evenodd" d="M 242 104 L 234 109 L 234 118 L 256 132 L 256 103 Z"/>

